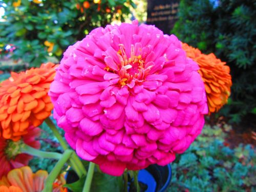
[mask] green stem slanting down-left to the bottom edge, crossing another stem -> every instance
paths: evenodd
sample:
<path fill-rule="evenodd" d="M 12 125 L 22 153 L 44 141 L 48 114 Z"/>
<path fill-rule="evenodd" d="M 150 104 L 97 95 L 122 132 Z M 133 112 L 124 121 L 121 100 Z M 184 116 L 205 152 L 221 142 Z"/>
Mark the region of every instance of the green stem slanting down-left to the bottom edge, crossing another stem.
<path fill-rule="evenodd" d="M 56 163 L 56 165 L 52 169 L 51 173 L 47 177 L 47 179 L 45 181 L 45 187 L 44 187 L 44 190 L 42 190 L 42 192 L 53 191 L 52 188 L 53 188 L 54 181 L 56 180 L 56 178 L 58 177 L 58 175 L 61 172 L 62 167 L 69 160 L 69 158 L 71 157 L 72 154 L 73 154 L 72 150 L 66 150 L 63 153 L 61 159 L 58 160 L 58 162 Z"/>

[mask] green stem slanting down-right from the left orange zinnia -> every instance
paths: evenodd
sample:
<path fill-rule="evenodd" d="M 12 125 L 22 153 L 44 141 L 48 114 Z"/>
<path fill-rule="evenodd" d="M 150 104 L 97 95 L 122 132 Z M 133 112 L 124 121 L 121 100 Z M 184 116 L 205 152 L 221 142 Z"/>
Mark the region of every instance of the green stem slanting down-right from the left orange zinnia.
<path fill-rule="evenodd" d="M 69 148 L 69 146 L 68 146 L 67 142 L 63 139 L 63 137 L 59 134 L 59 132 L 58 132 L 57 128 L 55 127 L 54 123 L 52 122 L 52 120 L 48 117 L 45 120 L 45 122 L 50 127 L 50 129 L 52 130 L 55 137 L 58 139 L 63 150 L 67 150 Z M 86 168 L 84 168 L 81 160 L 76 155 L 76 153 L 72 154 L 72 156 L 70 158 L 70 164 L 71 164 L 72 168 L 75 170 L 76 174 L 79 176 L 79 178 L 81 178 L 82 175 L 87 174 Z"/>

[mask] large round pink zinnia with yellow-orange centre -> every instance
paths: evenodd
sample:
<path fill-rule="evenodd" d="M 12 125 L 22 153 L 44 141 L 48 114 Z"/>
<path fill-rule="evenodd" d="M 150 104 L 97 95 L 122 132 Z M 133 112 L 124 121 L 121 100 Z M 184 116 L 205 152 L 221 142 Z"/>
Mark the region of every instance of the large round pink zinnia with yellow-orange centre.
<path fill-rule="evenodd" d="M 49 92 L 54 118 L 104 173 L 166 165 L 204 124 L 198 69 L 176 36 L 154 26 L 97 28 L 64 53 Z"/>

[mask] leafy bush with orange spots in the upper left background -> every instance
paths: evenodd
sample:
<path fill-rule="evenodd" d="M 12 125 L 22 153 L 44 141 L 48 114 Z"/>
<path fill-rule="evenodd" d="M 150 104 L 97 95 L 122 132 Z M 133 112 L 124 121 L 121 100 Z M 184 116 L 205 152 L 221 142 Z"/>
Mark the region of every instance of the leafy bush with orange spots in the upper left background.
<path fill-rule="evenodd" d="M 31 66 L 46 62 L 47 56 L 60 58 L 62 52 L 92 29 L 124 20 L 135 7 L 132 0 L 0 1 L 5 15 L 0 26 L 0 49 L 14 45 L 13 59 Z"/>

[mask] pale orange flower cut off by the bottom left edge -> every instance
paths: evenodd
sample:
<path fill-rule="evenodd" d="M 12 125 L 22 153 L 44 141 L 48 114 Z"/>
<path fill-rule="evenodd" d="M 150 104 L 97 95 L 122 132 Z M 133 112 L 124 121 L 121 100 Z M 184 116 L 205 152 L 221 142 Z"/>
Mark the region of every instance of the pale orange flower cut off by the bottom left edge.
<path fill-rule="evenodd" d="M 36 173 L 33 173 L 29 166 L 24 166 L 11 170 L 7 177 L 5 176 L 2 178 L 2 180 L 0 180 L 0 186 L 2 185 L 1 187 L 9 187 L 9 190 L 12 186 L 20 188 L 23 192 L 37 192 L 44 189 L 44 184 L 47 177 L 48 173 L 46 170 L 38 170 Z M 63 178 L 62 175 L 61 177 Z M 55 186 L 55 183 L 58 183 L 58 185 Z M 68 191 L 67 188 L 63 187 L 63 185 L 66 184 L 65 179 L 59 180 L 58 178 L 55 183 L 53 184 L 53 192 Z M 16 190 L 15 192 L 19 192 L 19 190 Z"/>

